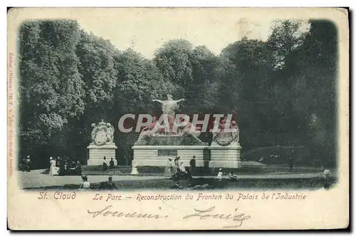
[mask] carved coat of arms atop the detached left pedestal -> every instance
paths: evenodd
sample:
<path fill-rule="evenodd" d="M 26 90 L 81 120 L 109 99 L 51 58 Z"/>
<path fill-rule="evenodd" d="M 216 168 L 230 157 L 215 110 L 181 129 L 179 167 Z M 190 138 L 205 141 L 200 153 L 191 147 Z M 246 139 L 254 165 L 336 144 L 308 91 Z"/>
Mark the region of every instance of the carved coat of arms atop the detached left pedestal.
<path fill-rule="evenodd" d="M 103 120 L 92 125 L 93 131 L 91 132 L 92 143 L 96 146 L 111 145 L 114 139 L 114 127 L 110 123 L 105 123 Z"/>

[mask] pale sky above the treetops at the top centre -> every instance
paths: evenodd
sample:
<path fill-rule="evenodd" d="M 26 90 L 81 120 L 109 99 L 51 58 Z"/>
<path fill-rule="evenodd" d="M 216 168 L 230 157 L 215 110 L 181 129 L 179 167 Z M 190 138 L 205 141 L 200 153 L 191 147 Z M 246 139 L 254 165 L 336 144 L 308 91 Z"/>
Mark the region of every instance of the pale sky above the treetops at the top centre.
<path fill-rule="evenodd" d="M 146 9 L 147 10 L 147 9 Z M 150 59 L 155 50 L 169 39 L 187 39 L 193 46 L 205 45 L 220 54 L 231 43 L 244 36 L 266 40 L 274 17 L 239 16 L 236 12 L 194 9 L 192 11 L 108 11 L 85 19 L 78 18 L 80 27 L 111 41 L 117 49 L 132 48 Z"/>

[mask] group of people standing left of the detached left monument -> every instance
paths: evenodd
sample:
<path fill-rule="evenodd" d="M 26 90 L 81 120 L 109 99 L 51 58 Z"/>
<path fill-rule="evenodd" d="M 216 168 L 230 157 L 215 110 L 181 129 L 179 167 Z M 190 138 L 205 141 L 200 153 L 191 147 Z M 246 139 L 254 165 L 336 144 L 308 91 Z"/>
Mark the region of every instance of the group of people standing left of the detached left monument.
<path fill-rule="evenodd" d="M 50 176 L 81 176 L 82 165 L 80 161 L 70 161 L 68 158 L 49 158 Z"/>

